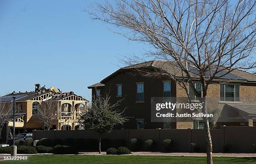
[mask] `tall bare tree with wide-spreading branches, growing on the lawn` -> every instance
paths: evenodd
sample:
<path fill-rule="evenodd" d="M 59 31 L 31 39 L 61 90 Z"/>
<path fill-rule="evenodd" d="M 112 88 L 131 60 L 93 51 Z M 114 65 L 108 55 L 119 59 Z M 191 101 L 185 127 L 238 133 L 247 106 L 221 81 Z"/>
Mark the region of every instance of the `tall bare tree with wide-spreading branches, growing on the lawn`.
<path fill-rule="evenodd" d="M 254 0 L 116 0 L 98 3 L 87 12 L 95 20 L 115 25 L 116 33 L 129 40 L 154 47 L 149 55 L 174 62 L 182 76 L 160 73 L 186 91 L 187 83 L 194 86 L 192 75 L 197 75 L 206 98 L 213 80 L 255 67 L 250 58 L 255 48 L 255 6 Z M 203 112 L 207 114 L 206 106 Z M 208 118 L 204 121 L 207 163 L 211 164 Z"/>

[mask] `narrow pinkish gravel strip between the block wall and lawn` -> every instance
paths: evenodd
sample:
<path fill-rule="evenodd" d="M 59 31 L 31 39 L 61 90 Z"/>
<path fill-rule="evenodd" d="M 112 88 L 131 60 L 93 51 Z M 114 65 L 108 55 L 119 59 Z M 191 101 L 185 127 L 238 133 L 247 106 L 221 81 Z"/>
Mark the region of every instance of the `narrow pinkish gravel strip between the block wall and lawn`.
<path fill-rule="evenodd" d="M 106 152 L 82 152 L 79 155 L 106 155 Z M 155 156 L 206 156 L 206 153 L 162 153 L 162 152 L 133 152 L 128 155 L 155 155 Z M 255 153 L 212 153 L 213 157 L 256 157 Z"/>

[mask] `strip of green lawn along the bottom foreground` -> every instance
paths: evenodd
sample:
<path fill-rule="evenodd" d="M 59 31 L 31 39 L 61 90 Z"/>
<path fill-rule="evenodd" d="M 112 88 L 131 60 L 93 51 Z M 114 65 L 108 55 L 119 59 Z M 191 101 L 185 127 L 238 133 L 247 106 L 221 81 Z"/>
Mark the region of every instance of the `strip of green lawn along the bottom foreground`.
<path fill-rule="evenodd" d="M 22 161 L 5 161 L 5 163 L 21 163 Z M 205 164 L 206 157 L 184 156 L 93 156 L 93 155 L 35 155 L 24 163 L 56 164 Z M 22 162 L 22 163 L 23 163 Z M 256 157 L 213 157 L 215 164 L 246 163 L 255 164 Z"/>

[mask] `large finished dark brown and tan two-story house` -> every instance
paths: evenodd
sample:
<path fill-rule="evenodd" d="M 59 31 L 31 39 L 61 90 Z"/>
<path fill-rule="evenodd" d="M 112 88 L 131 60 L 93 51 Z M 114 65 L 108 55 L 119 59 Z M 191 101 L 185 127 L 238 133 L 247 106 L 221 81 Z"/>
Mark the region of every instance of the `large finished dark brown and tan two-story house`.
<path fill-rule="evenodd" d="M 151 97 L 187 97 L 185 89 L 166 76 L 144 76 L 138 69 L 161 69 L 169 74 L 179 72 L 173 69 L 172 62 L 153 60 L 120 68 L 99 83 L 89 86 L 92 96 L 109 93 L 111 101 L 123 99 L 120 109 L 129 119 L 124 129 L 197 129 L 200 120 L 172 122 L 151 122 Z M 193 76 L 197 91 L 202 92 L 198 75 Z M 189 88 L 189 97 L 197 100 L 193 89 Z M 234 70 L 221 79 L 213 80 L 207 90 L 208 104 L 220 109 L 218 125 L 253 126 L 256 119 L 256 75 L 242 70 Z M 208 100 L 207 100 L 208 101 Z M 230 115 L 231 114 L 231 115 Z M 222 119 L 221 119 L 222 118 Z M 255 122 L 255 121 L 254 121 Z"/>

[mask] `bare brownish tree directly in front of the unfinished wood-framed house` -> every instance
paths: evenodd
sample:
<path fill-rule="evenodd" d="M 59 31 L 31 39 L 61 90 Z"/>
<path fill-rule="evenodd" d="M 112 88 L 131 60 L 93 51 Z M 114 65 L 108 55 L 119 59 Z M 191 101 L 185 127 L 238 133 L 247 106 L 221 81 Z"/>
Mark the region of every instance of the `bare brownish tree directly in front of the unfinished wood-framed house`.
<path fill-rule="evenodd" d="M 58 103 L 55 101 L 44 101 L 37 107 L 37 116 L 39 122 L 44 124 L 47 130 L 50 130 L 52 124 L 58 119 Z"/>

